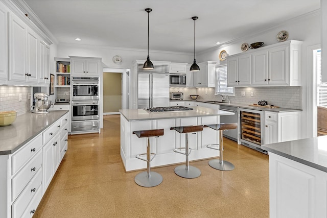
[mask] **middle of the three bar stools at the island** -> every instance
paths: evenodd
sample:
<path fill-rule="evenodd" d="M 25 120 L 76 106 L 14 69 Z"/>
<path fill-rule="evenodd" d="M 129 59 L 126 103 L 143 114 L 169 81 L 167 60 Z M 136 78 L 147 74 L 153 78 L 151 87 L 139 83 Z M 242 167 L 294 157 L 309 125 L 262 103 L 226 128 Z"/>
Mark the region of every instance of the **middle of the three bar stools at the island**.
<path fill-rule="evenodd" d="M 190 166 L 189 164 L 189 155 L 191 154 L 192 149 L 189 148 L 189 133 L 190 132 L 201 132 L 203 130 L 203 126 L 185 126 L 185 127 L 171 127 L 171 130 L 176 130 L 179 133 L 185 134 L 185 148 L 174 149 L 174 152 L 183 154 L 186 156 L 185 165 L 176 166 L 174 171 L 180 177 L 193 179 L 197 178 L 201 175 L 200 169 L 195 166 Z M 185 150 L 185 153 L 181 152 L 181 150 Z"/>

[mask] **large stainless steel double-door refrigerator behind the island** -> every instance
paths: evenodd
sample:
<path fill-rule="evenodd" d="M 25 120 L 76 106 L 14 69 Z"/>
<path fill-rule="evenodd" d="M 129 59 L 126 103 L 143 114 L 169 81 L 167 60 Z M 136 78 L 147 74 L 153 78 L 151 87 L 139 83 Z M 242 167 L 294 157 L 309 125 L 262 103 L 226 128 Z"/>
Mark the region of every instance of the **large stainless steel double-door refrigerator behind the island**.
<path fill-rule="evenodd" d="M 169 106 L 169 74 L 138 72 L 137 108 Z"/>

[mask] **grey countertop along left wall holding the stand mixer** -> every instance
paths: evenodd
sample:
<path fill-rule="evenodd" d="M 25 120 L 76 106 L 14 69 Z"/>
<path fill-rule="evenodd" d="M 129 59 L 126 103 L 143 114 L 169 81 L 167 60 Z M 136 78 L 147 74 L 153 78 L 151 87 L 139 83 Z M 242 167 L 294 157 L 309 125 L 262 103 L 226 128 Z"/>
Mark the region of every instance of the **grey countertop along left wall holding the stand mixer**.
<path fill-rule="evenodd" d="M 11 125 L 0 127 L 0 155 L 13 154 L 66 113 L 68 110 L 53 110 L 17 116 Z"/>

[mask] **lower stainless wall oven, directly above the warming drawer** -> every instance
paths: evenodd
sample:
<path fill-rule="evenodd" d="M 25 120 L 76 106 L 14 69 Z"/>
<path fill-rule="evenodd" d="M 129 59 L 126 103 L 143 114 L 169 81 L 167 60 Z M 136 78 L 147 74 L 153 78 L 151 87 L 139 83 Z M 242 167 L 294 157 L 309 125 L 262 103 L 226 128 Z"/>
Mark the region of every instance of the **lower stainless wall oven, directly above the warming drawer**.
<path fill-rule="evenodd" d="M 99 119 L 98 101 L 73 101 L 72 120 Z"/>

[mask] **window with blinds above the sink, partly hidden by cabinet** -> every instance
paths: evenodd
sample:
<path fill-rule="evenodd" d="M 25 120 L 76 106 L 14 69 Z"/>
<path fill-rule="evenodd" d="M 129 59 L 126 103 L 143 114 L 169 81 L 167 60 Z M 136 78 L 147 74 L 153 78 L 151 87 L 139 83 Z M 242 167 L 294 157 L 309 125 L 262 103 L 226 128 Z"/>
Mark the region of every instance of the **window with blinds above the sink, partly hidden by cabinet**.
<path fill-rule="evenodd" d="M 235 95 L 235 88 L 227 87 L 227 65 L 216 66 L 216 94 Z"/>

